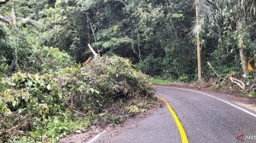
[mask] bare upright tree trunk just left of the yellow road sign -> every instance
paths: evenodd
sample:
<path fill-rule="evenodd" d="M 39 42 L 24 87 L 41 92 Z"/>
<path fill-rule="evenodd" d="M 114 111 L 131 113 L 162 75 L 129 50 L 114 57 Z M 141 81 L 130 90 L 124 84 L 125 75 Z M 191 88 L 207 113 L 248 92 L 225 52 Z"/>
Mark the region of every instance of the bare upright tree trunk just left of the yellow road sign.
<path fill-rule="evenodd" d="M 246 59 L 245 59 L 245 54 L 244 54 L 244 46 L 243 46 L 243 34 L 242 34 L 242 22 L 238 22 L 238 31 L 239 31 L 239 53 L 240 53 L 240 59 L 241 59 L 241 64 L 242 64 L 242 71 L 243 74 L 246 75 L 247 73 L 247 67 L 246 67 Z"/>

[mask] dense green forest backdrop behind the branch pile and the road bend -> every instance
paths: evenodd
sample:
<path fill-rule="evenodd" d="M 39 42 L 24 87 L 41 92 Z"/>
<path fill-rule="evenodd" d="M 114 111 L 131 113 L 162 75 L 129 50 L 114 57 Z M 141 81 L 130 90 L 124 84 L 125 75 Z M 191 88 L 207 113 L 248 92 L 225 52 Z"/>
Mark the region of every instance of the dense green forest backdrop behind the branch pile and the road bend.
<path fill-rule="evenodd" d="M 214 2 L 197 1 L 196 22 L 189 0 L 3 1 L 1 73 L 14 71 L 15 60 L 24 70 L 34 66 L 38 61 L 31 56 L 39 47 L 57 48 L 83 63 L 91 57 L 91 43 L 101 56 L 128 58 L 147 75 L 195 80 L 198 33 L 203 78 L 213 75 L 206 62 L 241 77 L 242 63 L 254 57 L 254 3 Z"/>

